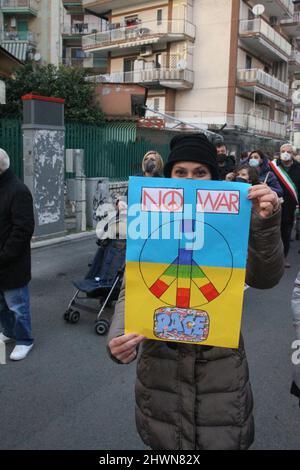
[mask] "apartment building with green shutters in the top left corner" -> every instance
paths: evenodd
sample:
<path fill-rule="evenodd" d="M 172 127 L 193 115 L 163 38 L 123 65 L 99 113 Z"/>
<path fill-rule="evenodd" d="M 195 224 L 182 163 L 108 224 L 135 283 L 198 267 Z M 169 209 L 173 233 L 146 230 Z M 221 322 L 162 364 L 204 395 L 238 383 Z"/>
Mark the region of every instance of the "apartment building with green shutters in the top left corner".
<path fill-rule="evenodd" d="M 0 44 L 21 61 L 58 65 L 60 0 L 0 0 Z"/>

